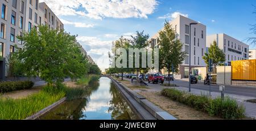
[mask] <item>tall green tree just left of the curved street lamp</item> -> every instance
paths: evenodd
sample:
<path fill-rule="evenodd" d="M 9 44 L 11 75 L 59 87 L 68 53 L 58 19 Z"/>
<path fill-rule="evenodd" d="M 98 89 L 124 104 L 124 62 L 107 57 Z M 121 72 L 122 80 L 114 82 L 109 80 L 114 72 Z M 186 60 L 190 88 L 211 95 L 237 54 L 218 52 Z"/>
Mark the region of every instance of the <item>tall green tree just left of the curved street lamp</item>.
<path fill-rule="evenodd" d="M 183 63 L 186 54 L 182 51 L 183 43 L 176 38 L 175 30 L 167 21 L 164 23 L 163 30 L 159 32 L 158 41 L 159 67 L 166 67 L 169 76 L 172 68 L 174 69 L 172 73 L 179 72 L 179 65 Z"/>

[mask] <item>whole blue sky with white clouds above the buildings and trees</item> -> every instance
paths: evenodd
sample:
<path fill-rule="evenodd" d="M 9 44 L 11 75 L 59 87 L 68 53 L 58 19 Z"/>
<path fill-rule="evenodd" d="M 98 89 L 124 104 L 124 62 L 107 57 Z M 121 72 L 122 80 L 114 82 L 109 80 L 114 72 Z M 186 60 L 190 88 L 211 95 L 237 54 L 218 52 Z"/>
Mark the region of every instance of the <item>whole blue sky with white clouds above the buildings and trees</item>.
<path fill-rule="evenodd" d="M 165 19 L 178 15 L 207 25 L 207 34 L 226 33 L 245 43 L 252 36 L 250 24 L 256 24 L 255 0 L 42 1 L 63 21 L 67 32 L 78 34 L 77 40 L 103 71 L 109 67 L 112 41 L 137 30 L 152 36 L 163 27 Z"/>

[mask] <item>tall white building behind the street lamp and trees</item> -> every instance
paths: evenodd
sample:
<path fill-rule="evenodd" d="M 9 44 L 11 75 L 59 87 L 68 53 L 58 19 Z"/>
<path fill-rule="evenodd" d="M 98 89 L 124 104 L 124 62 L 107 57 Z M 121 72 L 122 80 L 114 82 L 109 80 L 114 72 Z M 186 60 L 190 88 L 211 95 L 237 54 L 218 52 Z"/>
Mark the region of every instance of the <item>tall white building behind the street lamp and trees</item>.
<path fill-rule="evenodd" d="M 180 73 L 175 75 L 176 78 L 188 78 L 189 76 L 189 24 L 191 25 L 191 67 L 205 67 L 206 64 L 203 60 L 203 56 L 206 50 L 206 30 L 207 27 L 195 20 L 185 18 L 184 16 L 178 16 L 176 19 L 170 21 L 172 28 L 177 33 L 177 38 L 183 42 L 183 51 L 187 53 L 187 56 L 179 66 Z M 150 39 L 151 46 L 158 46 L 157 38 L 159 33 L 155 34 Z M 192 72 L 193 73 L 193 72 Z M 198 73 L 198 72 L 197 72 Z"/>

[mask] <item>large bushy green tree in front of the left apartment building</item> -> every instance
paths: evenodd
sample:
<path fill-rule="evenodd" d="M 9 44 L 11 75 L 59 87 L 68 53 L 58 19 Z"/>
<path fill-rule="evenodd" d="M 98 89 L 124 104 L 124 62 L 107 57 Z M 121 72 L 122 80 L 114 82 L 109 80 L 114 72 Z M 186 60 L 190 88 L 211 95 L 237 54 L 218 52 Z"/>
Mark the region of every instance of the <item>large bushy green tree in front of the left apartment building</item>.
<path fill-rule="evenodd" d="M 24 35 L 18 37 L 25 42 L 23 49 L 18 52 L 18 58 L 22 60 L 27 76 L 40 76 L 52 84 L 53 80 L 60 82 L 67 76 L 76 78 L 88 71 L 76 36 L 43 25 L 38 29 L 33 28 L 31 32 L 23 32 Z"/>

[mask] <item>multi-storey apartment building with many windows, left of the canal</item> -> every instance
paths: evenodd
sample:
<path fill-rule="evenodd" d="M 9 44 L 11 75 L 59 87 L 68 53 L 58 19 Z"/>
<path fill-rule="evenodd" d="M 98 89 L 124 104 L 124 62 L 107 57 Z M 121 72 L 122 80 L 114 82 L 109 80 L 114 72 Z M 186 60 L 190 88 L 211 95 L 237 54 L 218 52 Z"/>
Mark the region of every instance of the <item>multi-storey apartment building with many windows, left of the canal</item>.
<path fill-rule="evenodd" d="M 3 80 L 7 76 L 6 60 L 15 51 L 14 45 L 18 48 L 24 45 L 16 36 L 40 24 L 52 29 L 64 29 L 64 26 L 46 3 L 39 0 L 1 0 L 0 14 L 0 80 Z"/>

